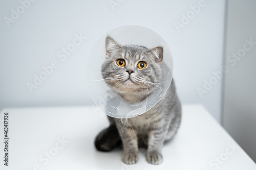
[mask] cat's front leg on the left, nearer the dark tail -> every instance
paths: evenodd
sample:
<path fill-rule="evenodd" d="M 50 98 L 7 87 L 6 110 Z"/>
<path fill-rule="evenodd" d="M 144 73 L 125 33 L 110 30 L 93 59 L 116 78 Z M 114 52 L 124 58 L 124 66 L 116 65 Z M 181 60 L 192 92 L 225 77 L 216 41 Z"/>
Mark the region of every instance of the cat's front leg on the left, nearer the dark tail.
<path fill-rule="evenodd" d="M 127 164 L 137 163 L 139 152 L 136 130 L 127 119 L 123 119 L 123 121 L 119 119 L 117 127 L 123 143 L 123 162 Z"/>

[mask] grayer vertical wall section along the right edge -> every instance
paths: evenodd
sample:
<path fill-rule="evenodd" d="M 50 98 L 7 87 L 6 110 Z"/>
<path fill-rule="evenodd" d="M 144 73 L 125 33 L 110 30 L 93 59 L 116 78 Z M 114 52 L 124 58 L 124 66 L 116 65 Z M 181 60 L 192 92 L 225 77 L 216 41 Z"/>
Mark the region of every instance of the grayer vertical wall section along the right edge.
<path fill-rule="evenodd" d="M 228 1 L 226 65 L 229 71 L 224 82 L 223 125 L 256 162 L 255 9 L 256 1 Z M 254 44 L 248 44 L 245 39 L 251 39 Z M 241 55 L 243 50 L 245 54 Z M 230 58 L 232 53 L 238 58 Z"/>

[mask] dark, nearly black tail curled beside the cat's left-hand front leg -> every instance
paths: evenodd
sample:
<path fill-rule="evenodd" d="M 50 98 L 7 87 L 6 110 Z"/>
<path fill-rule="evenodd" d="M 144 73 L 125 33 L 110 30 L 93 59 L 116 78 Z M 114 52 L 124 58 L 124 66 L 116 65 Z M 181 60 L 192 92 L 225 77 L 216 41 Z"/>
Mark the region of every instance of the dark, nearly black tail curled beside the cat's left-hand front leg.
<path fill-rule="evenodd" d="M 96 136 L 94 141 L 96 149 L 102 152 L 111 151 L 120 143 L 121 138 L 115 123 L 112 123 L 108 128 L 103 129 Z"/>

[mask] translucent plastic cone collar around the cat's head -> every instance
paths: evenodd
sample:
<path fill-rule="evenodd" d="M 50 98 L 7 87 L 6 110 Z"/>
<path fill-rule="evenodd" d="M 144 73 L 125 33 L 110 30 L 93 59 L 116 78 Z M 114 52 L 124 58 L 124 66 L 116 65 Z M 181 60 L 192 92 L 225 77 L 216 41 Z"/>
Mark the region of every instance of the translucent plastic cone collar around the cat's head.
<path fill-rule="evenodd" d="M 113 37 L 121 45 L 142 45 L 148 49 L 163 47 L 161 64 L 161 82 L 154 91 L 141 102 L 131 103 L 124 100 L 115 90 L 104 82 L 101 75 L 101 64 L 106 60 L 105 39 Z M 129 118 L 141 115 L 153 108 L 166 93 L 173 77 L 173 58 L 166 42 L 154 31 L 139 26 L 125 26 L 114 29 L 93 47 L 87 64 L 87 85 L 94 103 L 105 114 L 116 118 Z"/>

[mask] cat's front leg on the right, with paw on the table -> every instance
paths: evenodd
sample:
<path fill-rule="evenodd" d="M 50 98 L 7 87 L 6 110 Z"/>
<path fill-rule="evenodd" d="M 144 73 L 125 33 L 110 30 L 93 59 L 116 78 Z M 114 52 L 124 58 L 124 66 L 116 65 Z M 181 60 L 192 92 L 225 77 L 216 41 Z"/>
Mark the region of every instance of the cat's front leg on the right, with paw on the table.
<path fill-rule="evenodd" d="M 167 130 L 152 130 L 148 134 L 146 160 L 148 163 L 160 164 L 163 161 L 161 150 Z"/>

